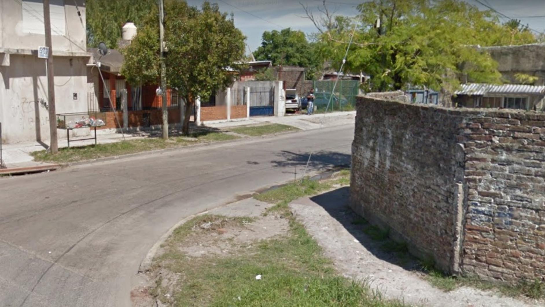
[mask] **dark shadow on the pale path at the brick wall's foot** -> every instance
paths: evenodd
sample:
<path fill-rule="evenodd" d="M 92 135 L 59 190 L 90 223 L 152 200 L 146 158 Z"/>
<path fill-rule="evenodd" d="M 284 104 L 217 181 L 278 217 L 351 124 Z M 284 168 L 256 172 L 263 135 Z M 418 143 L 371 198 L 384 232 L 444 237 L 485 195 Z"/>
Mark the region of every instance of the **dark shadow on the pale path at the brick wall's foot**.
<path fill-rule="evenodd" d="M 387 237 L 387 231 L 371 225 L 365 217 L 354 212 L 349 206 L 349 196 L 349 187 L 342 187 L 316 195 L 311 200 L 324 208 L 373 256 L 408 271 L 420 271 L 420 263 L 409 254 L 407 246 L 392 241 Z M 360 254 L 354 255 L 354 257 L 360 256 Z"/>

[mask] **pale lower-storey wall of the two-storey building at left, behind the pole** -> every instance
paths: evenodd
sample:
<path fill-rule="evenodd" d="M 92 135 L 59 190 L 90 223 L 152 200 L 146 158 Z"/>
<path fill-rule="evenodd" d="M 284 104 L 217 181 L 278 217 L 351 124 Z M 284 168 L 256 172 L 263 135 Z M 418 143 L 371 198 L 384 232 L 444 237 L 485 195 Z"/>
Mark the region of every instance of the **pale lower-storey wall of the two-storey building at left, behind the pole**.
<path fill-rule="evenodd" d="M 88 59 L 54 57 L 57 113 L 87 111 Z M 74 94 L 77 99 L 74 100 Z M 11 54 L 10 66 L 0 66 L 0 121 L 6 143 L 49 139 L 45 61 L 35 56 Z M 74 133 L 86 134 L 84 129 Z M 64 133 L 59 138 L 66 137 Z"/>

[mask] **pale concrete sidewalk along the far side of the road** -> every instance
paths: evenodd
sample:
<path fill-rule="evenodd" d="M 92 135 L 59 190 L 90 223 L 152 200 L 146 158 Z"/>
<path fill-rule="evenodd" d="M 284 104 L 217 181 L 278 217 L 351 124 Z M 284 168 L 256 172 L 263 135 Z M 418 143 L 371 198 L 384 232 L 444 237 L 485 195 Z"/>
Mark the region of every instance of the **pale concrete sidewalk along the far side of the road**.
<path fill-rule="evenodd" d="M 335 112 L 335 113 L 326 113 L 326 114 L 316 114 L 316 115 L 286 115 L 283 117 L 276 116 L 261 116 L 250 118 L 248 120 L 238 120 L 238 121 L 227 121 L 220 122 L 216 124 L 206 124 L 206 127 L 217 128 L 221 130 L 227 130 L 228 128 L 236 126 L 246 126 L 246 125 L 262 125 L 262 124 L 284 124 L 289 126 L 297 127 L 301 130 L 311 130 L 320 127 L 331 127 L 344 124 L 350 124 L 354 122 L 356 112 Z M 111 130 L 110 130 L 111 131 Z M 121 133 L 113 133 L 110 131 L 100 131 L 97 134 L 96 140 L 98 144 L 107 144 L 115 143 L 123 140 Z M 125 134 L 125 139 L 136 139 L 148 137 L 150 134 L 157 134 L 160 131 L 143 131 L 143 132 L 131 132 Z M 93 137 L 93 132 L 87 137 L 79 138 L 90 138 Z M 75 138 L 77 139 L 77 138 Z M 74 142 L 70 145 L 72 147 L 76 146 L 87 146 L 94 144 L 94 140 L 84 140 L 81 142 Z M 44 140 L 44 142 L 25 142 L 17 144 L 4 144 L 3 145 L 3 159 L 8 168 L 28 168 L 28 167 L 44 167 L 46 165 L 51 165 L 44 162 L 35 162 L 33 157 L 30 155 L 33 151 L 40 151 L 47 148 L 49 140 Z M 66 139 L 59 139 L 59 148 L 65 148 L 68 146 Z"/>

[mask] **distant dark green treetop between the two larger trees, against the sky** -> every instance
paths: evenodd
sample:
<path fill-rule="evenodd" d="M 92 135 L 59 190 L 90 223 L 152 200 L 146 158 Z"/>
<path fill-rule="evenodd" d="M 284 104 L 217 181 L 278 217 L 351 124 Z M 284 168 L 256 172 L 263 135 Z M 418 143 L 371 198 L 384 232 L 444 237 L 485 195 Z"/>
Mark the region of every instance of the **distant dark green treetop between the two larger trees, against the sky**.
<path fill-rule="evenodd" d="M 305 33 L 290 28 L 281 31 L 265 31 L 261 46 L 253 52 L 256 60 L 270 60 L 272 65 L 293 65 L 309 69 L 309 76 L 313 75 L 321 66 L 314 44 L 309 43 Z"/>

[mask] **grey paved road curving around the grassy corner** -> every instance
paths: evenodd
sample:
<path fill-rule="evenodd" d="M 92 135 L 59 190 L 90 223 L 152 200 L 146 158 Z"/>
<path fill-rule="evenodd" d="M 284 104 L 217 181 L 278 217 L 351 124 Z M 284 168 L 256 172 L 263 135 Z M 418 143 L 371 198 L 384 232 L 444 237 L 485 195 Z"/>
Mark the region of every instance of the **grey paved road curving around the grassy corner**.
<path fill-rule="evenodd" d="M 130 306 L 137 270 L 179 220 L 350 161 L 354 126 L 0 179 L 0 306 Z"/>

